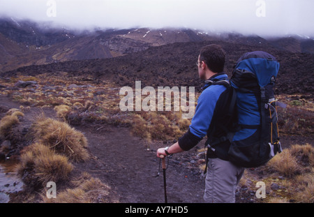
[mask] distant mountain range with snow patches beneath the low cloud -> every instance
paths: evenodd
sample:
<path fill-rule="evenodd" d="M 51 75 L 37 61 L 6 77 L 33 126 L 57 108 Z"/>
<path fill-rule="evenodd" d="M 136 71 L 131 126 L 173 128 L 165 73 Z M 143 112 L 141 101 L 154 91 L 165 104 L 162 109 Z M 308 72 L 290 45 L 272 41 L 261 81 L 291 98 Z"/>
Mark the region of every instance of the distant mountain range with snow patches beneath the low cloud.
<path fill-rule="evenodd" d="M 289 52 L 314 52 L 314 40 L 308 36 L 262 38 L 236 32 L 197 29 L 66 29 L 50 22 L 0 19 L 0 72 L 21 66 L 60 61 L 106 59 L 171 43 L 218 40 L 243 45 L 273 47 Z"/>

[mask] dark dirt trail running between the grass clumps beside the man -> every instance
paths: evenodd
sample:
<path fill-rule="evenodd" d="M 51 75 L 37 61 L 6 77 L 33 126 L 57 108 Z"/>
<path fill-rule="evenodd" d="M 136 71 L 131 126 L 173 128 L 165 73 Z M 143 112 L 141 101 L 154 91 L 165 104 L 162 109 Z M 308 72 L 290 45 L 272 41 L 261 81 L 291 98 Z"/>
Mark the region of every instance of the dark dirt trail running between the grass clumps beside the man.
<path fill-rule="evenodd" d="M 1 95 L 0 106 L 20 107 L 18 103 Z M 41 110 L 31 107 L 31 110 L 24 112 L 24 123 L 30 124 L 41 112 L 47 117 L 55 116 L 51 108 Z M 76 171 L 88 172 L 109 185 L 112 188 L 110 196 L 119 202 L 164 202 L 163 172 L 156 177 L 160 161 L 156 158 L 156 149 L 165 147 L 165 144 L 150 144 L 148 150 L 146 142 L 131 135 L 129 128 L 93 124 L 74 128 L 87 137 L 91 154 L 91 159 L 87 162 L 75 164 Z M 203 202 L 204 178 L 195 176 L 191 170 L 175 160 L 169 162 L 166 172 L 168 202 Z"/>

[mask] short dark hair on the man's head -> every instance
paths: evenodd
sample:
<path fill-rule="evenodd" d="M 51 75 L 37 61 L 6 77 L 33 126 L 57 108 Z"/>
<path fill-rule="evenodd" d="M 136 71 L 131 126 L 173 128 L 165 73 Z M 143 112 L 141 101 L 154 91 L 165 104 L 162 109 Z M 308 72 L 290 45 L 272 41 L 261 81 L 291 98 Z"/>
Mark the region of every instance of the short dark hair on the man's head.
<path fill-rule="evenodd" d="M 222 73 L 225 67 L 225 51 L 220 45 L 207 45 L 200 50 L 200 61 L 204 61 L 213 73 Z"/>

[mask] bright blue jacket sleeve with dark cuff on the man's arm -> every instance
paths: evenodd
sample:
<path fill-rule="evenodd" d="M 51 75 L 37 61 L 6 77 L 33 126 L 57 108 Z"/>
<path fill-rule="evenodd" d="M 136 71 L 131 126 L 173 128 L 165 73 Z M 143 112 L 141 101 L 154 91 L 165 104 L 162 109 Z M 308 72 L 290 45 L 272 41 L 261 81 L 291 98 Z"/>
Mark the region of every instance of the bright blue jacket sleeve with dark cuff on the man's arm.
<path fill-rule="evenodd" d="M 191 121 L 188 132 L 179 138 L 179 147 L 188 151 L 195 147 L 202 138 L 207 135 L 207 130 L 213 118 L 216 103 L 221 93 L 225 91 L 222 85 L 215 85 L 211 89 L 205 89 L 197 100 L 195 115 Z"/>

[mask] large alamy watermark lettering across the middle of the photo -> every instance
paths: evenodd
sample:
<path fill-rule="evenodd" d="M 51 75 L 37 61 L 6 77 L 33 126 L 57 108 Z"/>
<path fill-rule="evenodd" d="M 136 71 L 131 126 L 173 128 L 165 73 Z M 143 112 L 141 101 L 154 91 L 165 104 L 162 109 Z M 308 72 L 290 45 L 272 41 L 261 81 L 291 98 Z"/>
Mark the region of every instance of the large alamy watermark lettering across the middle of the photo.
<path fill-rule="evenodd" d="M 188 87 L 188 92 L 187 87 L 158 87 L 156 91 L 154 87 L 142 89 L 141 82 L 136 81 L 135 91 L 132 87 L 122 87 L 119 95 L 124 96 L 119 103 L 119 108 L 123 112 L 142 110 L 179 112 L 181 110 L 182 119 L 191 119 L 195 114 L 195 87 Z"/>

